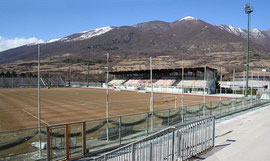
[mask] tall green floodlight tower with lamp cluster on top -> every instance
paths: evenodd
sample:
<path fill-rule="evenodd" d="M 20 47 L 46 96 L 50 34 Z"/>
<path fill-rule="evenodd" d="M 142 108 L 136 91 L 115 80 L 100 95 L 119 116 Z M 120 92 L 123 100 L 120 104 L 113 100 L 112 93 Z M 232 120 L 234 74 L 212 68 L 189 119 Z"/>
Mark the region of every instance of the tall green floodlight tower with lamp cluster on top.
<path fill-rule="evenodd" d="M 246 91 L 245 91 L 245 97 L 248 96 L 248 74 L 249 74 L 249 20 L 250 20 L 250 13 L 253 12 L 250 5 L 247 3 L 245 5 L 245 12 L 248 15 L 248 37 L 247 37 L 247 72 L 246 72 Z"/>

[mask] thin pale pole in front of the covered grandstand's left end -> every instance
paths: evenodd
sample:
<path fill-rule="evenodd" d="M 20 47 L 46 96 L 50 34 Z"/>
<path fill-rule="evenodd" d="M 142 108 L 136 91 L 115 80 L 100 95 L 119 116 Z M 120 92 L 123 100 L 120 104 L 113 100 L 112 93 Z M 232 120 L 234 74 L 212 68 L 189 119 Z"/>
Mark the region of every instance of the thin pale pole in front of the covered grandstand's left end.
<path fill-rule="evenodd" d="M 108 123 L 109 123 L 109 53 L 107 53 L 107 79 L 106 79 L 106 133 L 107 133 L 107 141 L 109 141 L 109 128 L 108 128 Z"/>

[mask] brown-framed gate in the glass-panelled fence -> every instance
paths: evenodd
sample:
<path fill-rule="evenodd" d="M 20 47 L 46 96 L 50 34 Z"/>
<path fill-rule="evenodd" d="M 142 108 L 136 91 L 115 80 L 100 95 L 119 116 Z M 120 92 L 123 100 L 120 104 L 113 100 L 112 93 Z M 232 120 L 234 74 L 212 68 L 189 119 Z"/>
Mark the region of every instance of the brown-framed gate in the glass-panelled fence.
<path fill-rule="evenodd" d="M 85 122 L 47 128 L 47 160 L 69 160 L 85 155 Z"/>

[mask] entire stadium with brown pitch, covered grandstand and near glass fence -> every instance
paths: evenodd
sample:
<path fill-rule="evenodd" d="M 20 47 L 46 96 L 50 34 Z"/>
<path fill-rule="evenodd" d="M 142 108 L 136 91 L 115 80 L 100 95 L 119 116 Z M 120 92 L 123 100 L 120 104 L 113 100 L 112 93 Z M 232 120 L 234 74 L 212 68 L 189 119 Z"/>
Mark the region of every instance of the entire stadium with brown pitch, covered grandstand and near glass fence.
<path fill-rule="evenodd" d="M 207 66 L 108 72 L 108 83 L 2 77 L 0 157 L 31 159 L 42 153 L 46 160 L 93 159 L 171 125 L 265 103 L 216 96 L 218 73 Z"/>

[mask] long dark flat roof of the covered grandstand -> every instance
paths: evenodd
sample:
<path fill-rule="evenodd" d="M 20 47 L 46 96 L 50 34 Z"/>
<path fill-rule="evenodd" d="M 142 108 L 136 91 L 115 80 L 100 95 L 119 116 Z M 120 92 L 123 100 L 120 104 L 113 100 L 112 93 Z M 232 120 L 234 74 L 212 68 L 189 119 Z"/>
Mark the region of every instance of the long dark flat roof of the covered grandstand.
<path fill-rule="evenodd" d="M 185 72 L 195 72 L 195 71 L 201 71 L 204 72 L 205 67 L 185 67 Z M 207 67 L 207 70 L 213 70 L 216 71 L 217 69 Z M 170 73 L 170 72 L 182 72 L 182 68 L 167 68 L 167 69 L 152 69 L 153 72 L 164 72 L 164 73 Z M 150 69 L 144 69 L 144 70 L 122 70 L 122 71 L 111 71 L 110 74 L 113 75 L 119 75 L 119 74 L 129 74 L 129 73 L 149 73 Z"/>

